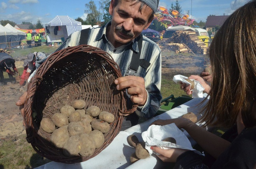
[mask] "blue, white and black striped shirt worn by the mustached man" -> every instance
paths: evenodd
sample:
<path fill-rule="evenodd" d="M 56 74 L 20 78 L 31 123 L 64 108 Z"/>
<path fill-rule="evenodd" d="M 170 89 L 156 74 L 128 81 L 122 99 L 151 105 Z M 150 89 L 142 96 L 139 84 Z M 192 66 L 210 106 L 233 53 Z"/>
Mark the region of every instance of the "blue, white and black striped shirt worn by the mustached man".
<path fill-rule="evenodd" d="M 108 24 L 111 24 L 109 22 Z M 106 25 L 108 25 L 106 24 Z M 81 31 L 72 33 L 65 42 L 56 50 L 67 48 L 68 46 L 77 46 L 80 42 Z M 131 57 L 134 51 L 139 51 L 137 38 L 132 42 L 115 48 L 106 38 L 106 27 L 90 28 L 88 35 L 88 45 L 101 48 L 108 52 L 114 61 L 120 67 L 121 73 L 125 76 L 129 68 Z M 132 50 L 131 50 L 132 49 Z M 55 51 L 55 52 L 56 52 Z M 143 77 L 147 91 L 147 101 L 144 106 L 138 107 L 136 114 L 139 117 L 151 118 L 158 111 L 162 96 L 161 88 L 161 50 L 156 43 L 143 36 L 142 51 L 140 59 L 150 62 L 150 66 L 145 69 L 139 66 L 135 76 Z M 46 59 L 37 62 L 37 67 Z"/>

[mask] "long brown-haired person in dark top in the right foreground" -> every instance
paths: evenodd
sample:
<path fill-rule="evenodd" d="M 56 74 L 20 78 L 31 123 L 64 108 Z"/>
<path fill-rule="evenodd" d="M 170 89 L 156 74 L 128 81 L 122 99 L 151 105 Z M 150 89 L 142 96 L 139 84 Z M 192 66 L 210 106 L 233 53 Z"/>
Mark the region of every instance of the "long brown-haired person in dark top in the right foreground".
<path fill-rule="evenodd" d="M 157 120 L 152 124 L 175 123 L 185 129 L 207 154 L 204 158 L 185 149 L 163 150 L 151 147 L 164 162 L 183 168 L 256 168 L 256 0 L 232 13 L 215 34 L 209 48 L 211 84 L 198 80 L 210 96 L 202 109 L 204 126 L 228 127 L 218 137 L 185 118 Z M 181 85 L 185 87 L 185 85 Z M 187 94 L 192 91 L 184 90 Z M 206 101 L 207 98 L 204 99 Z M 212 156 L 211 163 L 207 163 Z"/>

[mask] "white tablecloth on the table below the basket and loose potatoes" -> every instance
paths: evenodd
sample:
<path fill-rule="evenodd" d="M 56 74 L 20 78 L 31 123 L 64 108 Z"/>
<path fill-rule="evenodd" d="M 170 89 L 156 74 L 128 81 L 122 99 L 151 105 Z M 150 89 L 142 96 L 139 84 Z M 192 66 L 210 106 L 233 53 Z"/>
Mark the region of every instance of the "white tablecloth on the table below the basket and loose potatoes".
<path fill-rule="evenodd" d="M 205 96 L 205 94 L 204 94 Z M 130 147 L 127 143 L 127 137 L 131 134 L 136 135 L 139 138 L 139 141 L 143 141 L 141 137 L 141 133 L 146 131 L 148 126 L 158 119 L 170 119 L 177 118 L 186 114 L 187 112 L 193 112 L 198 114 L 201 110 L 202 106 L 197 106 L 203 98 L 194 98 L 185 104 L 178 106 L 174 109 L 171 109 L 161 115 L 154 117 L 150 120 L 147 120 L 141 124 L 130 127 L 125 131 L 119 132 L 119 134 L 115 137 L 115 139 L 111 142 L 111 144 L 102 150 L 97 156 L 81 163 L 75 164 L 64 164 L 57 162 L 50 162 L 37 169 L 153 169 L 160 168 L 165 165 L 158 157 L 154 154 L 146 159 L 140 159 L 137 162 L 131 164 L 130 156 L 133 152 L 135 152 L 135 148 Z M 200 124 L 198 124 L 200 125 Z M 195 144 L 195 141 L 190 138 L 190 136 L 184 132 L 188 137 L 189 141 L 192 145 Z"/>

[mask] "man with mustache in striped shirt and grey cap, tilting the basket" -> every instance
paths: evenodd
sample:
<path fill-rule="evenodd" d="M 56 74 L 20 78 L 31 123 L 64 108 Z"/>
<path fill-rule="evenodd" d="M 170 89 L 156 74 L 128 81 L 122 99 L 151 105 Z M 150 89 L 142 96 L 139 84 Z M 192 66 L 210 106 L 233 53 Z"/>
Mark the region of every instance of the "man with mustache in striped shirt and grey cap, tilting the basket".
<path fill-rule="evenodd" d="M 135 113 L 125 118 L 122 130 L 138 124 L 138 117 L 153 117 L 162 99 L 160 48 L 153 41 L 140 36 L 142 30 L 150 26 L 158 3 L 159 0 L 111 0 L 109 13 L 112 20 L 105 26 L 90 28 L 86 34 L 88 39 L 83 43 L 99 47 L 113 57 L 123 75 L 114 81 L 116 88 L 127 89 L 129 105 L 139 105 Z M 72 33 L 57 50 L 81 45 L 85 39 L 81 34 L 81 31 Z M 140 42 L 142 47 L 139 47 Z M 138 70 L 131 68 L 134 65 L 134 62 L 131 63 L 134 52 L 140 53 Z M 25 99 L 21 98 L 17 106 L 23 105 Z"/>

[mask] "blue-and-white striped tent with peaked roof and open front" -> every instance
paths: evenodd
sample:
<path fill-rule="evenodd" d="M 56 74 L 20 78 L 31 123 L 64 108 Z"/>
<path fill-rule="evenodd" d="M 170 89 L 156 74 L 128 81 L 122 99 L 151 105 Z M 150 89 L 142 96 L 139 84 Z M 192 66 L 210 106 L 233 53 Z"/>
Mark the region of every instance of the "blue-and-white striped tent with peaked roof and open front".
<path fill-rule="evenodd" d="M 67 39 L 73 32 L 82 30 L 82 23 L 67 15 L 57 15 L 52 21 L 45 24 L 45 28 L 48 33 L 48 42 L 61 42 L 62 37 Z"/>

